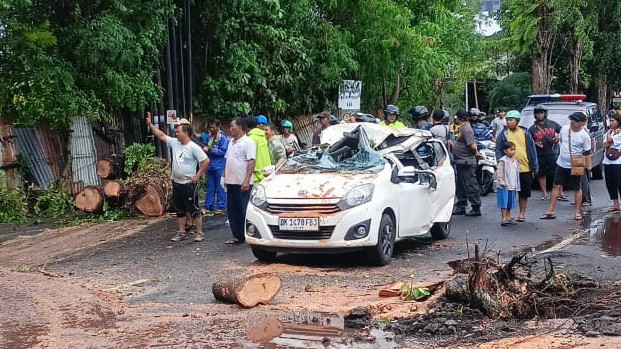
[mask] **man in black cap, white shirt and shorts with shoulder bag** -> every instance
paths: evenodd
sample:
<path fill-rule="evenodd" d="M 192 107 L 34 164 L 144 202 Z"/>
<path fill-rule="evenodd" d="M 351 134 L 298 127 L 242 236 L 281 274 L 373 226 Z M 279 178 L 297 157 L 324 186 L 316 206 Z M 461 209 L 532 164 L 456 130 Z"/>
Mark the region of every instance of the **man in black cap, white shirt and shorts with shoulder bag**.
<path fill-rule="evenodd" d="M 554 173 L 554 187 L 550 197 L 548 210 L 539 217 L 540 219 L 556 218 L 556 202 L 561 194 L 563 186 L 574 190 L 574 202 L 582 202 L 582 190 L 580 189 L 581 176 L 571 174 L 571 155 L 589 155 L 591 153 L 591 137 L 582 128 L 586 121 L 586 114 L 575 112 L 569 115 L 569 125 L 561 128 L 560 152 L 556 160 Z M 582 220 L 582 205 L 574 205 L 574 219 Z"/>

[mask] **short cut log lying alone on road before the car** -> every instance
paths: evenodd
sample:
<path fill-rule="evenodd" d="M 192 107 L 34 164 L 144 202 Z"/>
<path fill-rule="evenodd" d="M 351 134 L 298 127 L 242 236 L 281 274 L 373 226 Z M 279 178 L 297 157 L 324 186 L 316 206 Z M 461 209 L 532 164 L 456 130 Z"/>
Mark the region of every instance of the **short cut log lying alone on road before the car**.
<path fill-rule="evenodd" d="M 282 280 L 278 275 L 262 273 L 216 280 L 211 285 L 211 292 L 218 300 L 252 308 L 271 302 L 281 286 Z"/>

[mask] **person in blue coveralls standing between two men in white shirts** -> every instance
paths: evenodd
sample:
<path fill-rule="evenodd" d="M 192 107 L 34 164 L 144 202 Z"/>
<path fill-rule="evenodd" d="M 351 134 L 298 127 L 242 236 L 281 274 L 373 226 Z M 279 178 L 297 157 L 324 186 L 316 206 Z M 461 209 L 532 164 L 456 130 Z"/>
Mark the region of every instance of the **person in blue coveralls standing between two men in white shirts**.
<path fill-rule="evenodd" d="M 201 134 L 201 140 L 205 144 L 203 151 L 209 157 L 209 168 L 205 180 L 205 204 L 201 212 L 206 216 L 213 216 L 214 213 L 221 215 L 224 214 L 226 208 L 226 193 L 220 185 L 220 178 L 226 164 L 224 154 L 226 154 L 229 140 L 220 129 L 220 120 L 213 120 L 209 123 L 209 133 Z"/>

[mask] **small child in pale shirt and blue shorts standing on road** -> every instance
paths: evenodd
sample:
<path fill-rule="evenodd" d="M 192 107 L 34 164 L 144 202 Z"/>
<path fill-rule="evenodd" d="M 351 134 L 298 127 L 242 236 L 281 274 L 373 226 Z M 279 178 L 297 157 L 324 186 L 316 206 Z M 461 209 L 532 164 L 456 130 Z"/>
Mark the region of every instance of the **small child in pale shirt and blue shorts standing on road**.
<path fill-rule="evenodd" d="M 505 156 L 498 160 L 496 169 L 498 178 L 496 198 L 502 216 L 500 225 L 504 227 L 517 224 L 515 219 L 511 218 L 511 209 L 515 207 L 515 197 L 520 191 L 520 165 L 515 159 L 515 144 L 505 142 L 502 151 Z"/>

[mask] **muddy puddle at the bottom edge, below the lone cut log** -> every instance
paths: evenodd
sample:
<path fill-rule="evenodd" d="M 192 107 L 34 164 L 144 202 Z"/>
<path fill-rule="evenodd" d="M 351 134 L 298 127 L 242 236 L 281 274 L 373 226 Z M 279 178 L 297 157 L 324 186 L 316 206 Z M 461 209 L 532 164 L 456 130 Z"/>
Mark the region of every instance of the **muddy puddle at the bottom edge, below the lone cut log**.
<path fill-rule="evenodd" d="M 397 348 L 394 334 L 380 329 L 346 329 L 337 314 L 295 312 L 262 320 L 246 334 L 260 348 Z"/>

